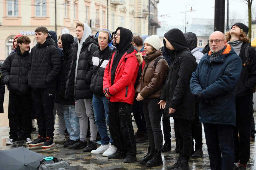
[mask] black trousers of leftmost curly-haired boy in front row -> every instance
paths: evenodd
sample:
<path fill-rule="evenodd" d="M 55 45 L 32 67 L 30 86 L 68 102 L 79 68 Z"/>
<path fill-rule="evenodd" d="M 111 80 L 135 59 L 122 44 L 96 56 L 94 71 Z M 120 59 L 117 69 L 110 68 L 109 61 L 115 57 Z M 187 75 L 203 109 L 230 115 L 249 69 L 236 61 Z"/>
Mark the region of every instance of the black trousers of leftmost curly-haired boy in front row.
<path fill-rule="evenodd" d="M 31 94 L 18 95 L 9 92 L 8 119 L 10 127 L 10 139 L 16 140 L 18 137 L 19 117 L 22 116 L 23 133 L 26 138 L 31 138 Z"/>

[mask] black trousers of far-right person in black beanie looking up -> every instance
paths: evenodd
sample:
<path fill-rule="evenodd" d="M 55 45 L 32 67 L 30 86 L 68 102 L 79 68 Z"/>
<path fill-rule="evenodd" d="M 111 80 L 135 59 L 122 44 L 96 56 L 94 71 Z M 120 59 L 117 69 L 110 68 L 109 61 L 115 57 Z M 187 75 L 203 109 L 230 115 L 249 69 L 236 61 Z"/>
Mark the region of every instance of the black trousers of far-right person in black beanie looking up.
<path fill-rule="evenodd" d="M 236 100 L 236 128 L 234 130 L 235 163 L 246 165 L 250 159 L 252 96 Z M 239 133 L 239 139 L 238 139 Z"/>

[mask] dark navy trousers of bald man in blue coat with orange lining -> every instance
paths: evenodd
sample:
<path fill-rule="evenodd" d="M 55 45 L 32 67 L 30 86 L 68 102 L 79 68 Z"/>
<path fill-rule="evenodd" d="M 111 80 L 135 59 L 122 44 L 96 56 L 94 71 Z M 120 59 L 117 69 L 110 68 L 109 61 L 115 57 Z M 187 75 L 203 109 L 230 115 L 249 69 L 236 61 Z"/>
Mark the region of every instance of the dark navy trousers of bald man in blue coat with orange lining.
<path fill-rule="evenodd" d="M 219 124 L 203 124 L 203 126 L 211 170 L 233 170 L 234 127 Z"/>

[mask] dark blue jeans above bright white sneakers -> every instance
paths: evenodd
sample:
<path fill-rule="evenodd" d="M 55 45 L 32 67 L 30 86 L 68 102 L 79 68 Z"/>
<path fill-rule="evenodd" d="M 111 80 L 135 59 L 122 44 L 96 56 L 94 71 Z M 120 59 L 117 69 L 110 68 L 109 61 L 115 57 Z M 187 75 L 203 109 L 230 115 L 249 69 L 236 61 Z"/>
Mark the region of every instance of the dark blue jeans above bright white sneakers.
<path fill-rule="evenodd" d="M 101 145 L 108 145 L 108 143 L 114 145 L 111 136 L 110 138 L 108 137 L 108 130 L 106 126 L 106 120 L 108 124 L 108 98 L 105 96 L 96 97 L 93 95 L 93 110 L 95 115 L 95 122 L 101 137 Z"/>

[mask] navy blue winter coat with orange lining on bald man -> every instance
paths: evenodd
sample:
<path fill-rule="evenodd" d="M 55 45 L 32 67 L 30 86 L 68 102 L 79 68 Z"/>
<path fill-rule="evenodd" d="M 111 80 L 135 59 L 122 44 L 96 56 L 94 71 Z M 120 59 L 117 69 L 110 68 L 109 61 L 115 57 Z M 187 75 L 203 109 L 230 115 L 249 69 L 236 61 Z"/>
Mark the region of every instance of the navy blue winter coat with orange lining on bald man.
<path fill-rule="evenodd" d="M 201 123 L 236 125 L 235 87 L 242 61 L 229 44 L 226 46 L 222 55 L 211 63 L 211 51 L 206 53 L 190 80 L 192 94 L 202 93 L 208 101 L 199 102 Z"/>

